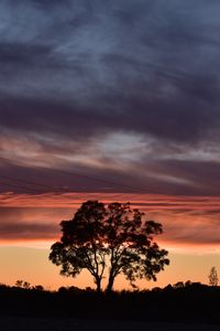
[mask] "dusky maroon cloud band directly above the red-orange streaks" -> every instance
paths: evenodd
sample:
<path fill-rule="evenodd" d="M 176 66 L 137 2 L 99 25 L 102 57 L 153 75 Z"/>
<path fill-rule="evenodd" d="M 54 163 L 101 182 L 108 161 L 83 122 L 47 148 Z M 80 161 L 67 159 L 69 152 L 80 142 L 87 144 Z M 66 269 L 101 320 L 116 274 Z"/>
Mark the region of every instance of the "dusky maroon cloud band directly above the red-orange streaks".
<path fill-rule="evenodd" d="M 57 152 L 57 151 L 56 151 Z M 46 153 L 51 167 L 1 164 L 0 191 L 40 194 L 45 192 L 160 193 L 173 195 L 219 196 L 216 184 L 220 178 L 219 163 L 211 161 L 146 160 L 129 168 L 114 168 L 112 159 L 96 166 L 68 162 Z M 73 152 L 74 154 L 74 152 Z M 2 162 L 2 160 L 1 160 Z M 3 162 L 2 162 L 3 163 Z M 18 163 L 18 162 L 16 162 Z M 108 167 L 105 166 L 108 163 Z M 201 202 L 202 203 L 202 202 Z"/>

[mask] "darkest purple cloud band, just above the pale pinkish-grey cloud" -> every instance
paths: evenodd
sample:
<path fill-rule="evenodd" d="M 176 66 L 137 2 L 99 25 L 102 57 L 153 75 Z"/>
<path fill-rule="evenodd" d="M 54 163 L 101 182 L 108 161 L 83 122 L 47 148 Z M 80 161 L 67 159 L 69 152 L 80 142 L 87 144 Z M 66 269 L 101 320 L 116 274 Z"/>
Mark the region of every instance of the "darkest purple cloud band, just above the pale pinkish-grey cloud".
<path fill-rule="evenodd" d="M 194 108 L 196 103 L 191 100 L 186 111 L 186 100 L 182 97 L 174 97 L 169 103 L 148 100 L 147 96 L 141 93 L 114 97 L 107 95 L 105 103 L 108 99 L 110 104 L 102 109 L 99 108 L 99 100 L 85 108 L 78 103 L 70 106 L 65 102 L 2 99 L 1 126 L 20 132 L 42 132 L 64 139 L 89 139 L 121 130 L 166 139 L 168 142 L 196 143 L 202 140 L 219 140 L 220 119 L 216 108 L 211 113 L 202 106 L 199 108 L 199 105 Z M 120 99 L 122 108 L 118 109 L 117 102 Z"/>

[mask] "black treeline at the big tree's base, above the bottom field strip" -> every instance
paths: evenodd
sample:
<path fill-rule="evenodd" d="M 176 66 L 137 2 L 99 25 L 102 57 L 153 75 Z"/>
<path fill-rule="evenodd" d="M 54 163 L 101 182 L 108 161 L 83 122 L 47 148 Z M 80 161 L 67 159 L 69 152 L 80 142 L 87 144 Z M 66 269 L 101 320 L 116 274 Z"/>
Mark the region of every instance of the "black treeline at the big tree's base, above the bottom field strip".
<path fill-rule="evenodd" d="M 98 293 L 90 288 L 0 285 L 0 316 L 134 319 L 220 324 L 220 287 L 177 282 L 164 289 Z"/>

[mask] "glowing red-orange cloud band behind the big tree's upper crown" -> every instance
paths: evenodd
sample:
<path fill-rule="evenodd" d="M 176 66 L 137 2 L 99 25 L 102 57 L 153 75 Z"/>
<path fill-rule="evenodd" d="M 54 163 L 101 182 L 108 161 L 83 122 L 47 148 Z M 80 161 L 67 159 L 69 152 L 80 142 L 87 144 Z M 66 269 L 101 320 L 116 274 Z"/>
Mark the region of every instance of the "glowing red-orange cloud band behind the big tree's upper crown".
<path fill-rule="evenodd" d="M 220 199 L 194 196 L 168 196 L 144 194 L 43 194 L 1 195 L 0 234 L 1 244 L 16 242 L 52 243 L 61 236 L 59 222 L 70 220 L 82 201 L 100 199 L 128 202 L 145 212 L 146 220 L 161 222 L 164 234 L 156 238 L 163 246 L 173 249 L 182 247 L 220 247 L 219 216 Z"/>

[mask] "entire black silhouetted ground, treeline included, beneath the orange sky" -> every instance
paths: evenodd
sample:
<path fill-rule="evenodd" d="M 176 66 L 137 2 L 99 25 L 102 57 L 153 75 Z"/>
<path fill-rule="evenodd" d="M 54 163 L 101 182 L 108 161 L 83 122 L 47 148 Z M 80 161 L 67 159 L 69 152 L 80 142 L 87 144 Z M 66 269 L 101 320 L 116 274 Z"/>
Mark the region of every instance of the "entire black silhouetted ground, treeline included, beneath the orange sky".
<path fill-rule="evenodd" d="M 0 286 L 0 331 L 219 331 L 220 287 L 201 284 L 151 291 Z"/>

